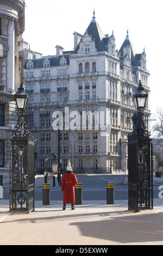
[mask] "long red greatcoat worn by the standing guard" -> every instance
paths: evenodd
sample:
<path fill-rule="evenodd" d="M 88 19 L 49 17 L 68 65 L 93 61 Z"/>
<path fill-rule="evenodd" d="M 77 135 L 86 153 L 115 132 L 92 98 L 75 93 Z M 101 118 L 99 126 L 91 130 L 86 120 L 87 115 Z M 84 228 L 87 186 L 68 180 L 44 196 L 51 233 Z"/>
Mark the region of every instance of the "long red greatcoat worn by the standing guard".
<path fill-rule="evenodd" d="M 76 202 L 74 185 L 77 183 L 78 180 L 74 173 L 68 171 L 62 175 L 61 191 L 64 191 L 63 203 L 72 204 Z"/>

